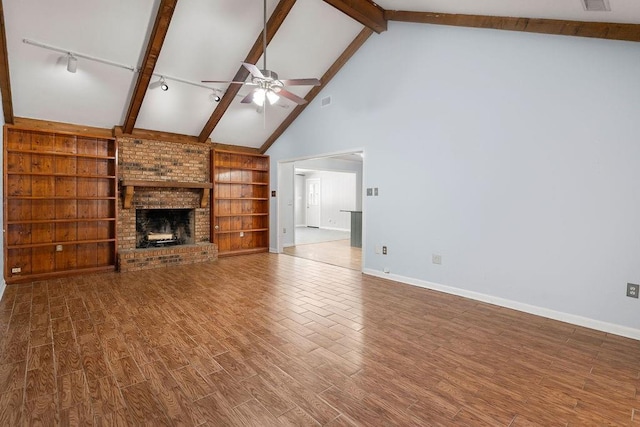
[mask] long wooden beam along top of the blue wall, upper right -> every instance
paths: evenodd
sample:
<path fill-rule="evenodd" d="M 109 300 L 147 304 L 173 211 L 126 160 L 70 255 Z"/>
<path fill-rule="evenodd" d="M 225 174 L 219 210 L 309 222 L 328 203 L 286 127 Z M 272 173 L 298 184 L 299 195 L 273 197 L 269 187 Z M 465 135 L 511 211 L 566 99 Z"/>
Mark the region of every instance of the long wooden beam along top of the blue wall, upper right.
<path fill-rule="evenodd" d="M 594 37 L 610 40 L 640 41 L 640 25 L 607 22 L 566 21 L 541 18 L 511 18 L 487 15 L 458 15 L 450 13 L 408 12 L 387 10 L 389 21 L 422 24 L 453 25 L 457 27 L 490 28 L 528 33 L 562 36 Z"/>

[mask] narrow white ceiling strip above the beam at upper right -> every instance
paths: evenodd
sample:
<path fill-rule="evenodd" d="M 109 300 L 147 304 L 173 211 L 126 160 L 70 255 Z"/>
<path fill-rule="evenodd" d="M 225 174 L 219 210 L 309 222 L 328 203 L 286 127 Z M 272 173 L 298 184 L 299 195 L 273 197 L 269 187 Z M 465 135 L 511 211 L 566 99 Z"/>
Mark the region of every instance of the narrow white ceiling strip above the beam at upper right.
<path fill-rule="evenodd" d="M 640 1 L 609 0 L 610 12 L 587 12 L 582 0 L 378 0 L 387 10 L 640 23 Z"/>

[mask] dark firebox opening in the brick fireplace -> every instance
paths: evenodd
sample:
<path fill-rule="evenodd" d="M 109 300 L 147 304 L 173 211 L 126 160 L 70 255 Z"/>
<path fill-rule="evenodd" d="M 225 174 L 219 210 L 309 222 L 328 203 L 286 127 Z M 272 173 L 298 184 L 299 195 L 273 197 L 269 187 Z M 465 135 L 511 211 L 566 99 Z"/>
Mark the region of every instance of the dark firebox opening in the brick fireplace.
<path fill-rule="evenodd" d="M 193 209 L 137 209 L 136 248 L 194 243 Z"/>

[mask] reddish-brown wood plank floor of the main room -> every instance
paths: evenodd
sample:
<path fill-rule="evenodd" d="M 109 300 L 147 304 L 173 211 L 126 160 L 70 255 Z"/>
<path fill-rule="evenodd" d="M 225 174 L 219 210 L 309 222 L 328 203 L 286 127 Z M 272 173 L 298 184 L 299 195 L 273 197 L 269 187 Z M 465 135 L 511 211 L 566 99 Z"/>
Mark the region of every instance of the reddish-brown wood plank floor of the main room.
<path fill-rule="evenodd" d="M 10 285 L 0 425 L 640 425 L 640 342 L 257 254 Z"/>

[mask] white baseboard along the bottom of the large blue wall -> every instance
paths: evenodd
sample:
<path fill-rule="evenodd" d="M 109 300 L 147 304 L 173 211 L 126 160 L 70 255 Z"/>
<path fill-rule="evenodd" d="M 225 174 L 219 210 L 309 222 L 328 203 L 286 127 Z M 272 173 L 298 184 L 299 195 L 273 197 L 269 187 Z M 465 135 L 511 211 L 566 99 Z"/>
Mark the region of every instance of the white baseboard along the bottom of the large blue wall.
<path fill-rule="evenodd" d="M 362 270 L 362 272 L 364 274 L 405 283 L 407 285 L 418 286 L 421 288 L 440 291 L 451 295 L 457 295 L 476 301 L 487 302 L 489 304 L 498 305 L 500 307 L 511 308 L 513 310 L 535 314 L 536 316 L 546 317 L 548 319 L 559 320 L 561 322 L 571 323 L 577 326 L 584 326 L 585 328 L 596 329 L 598 331 L 640 340 L 640 329 L 634 329 L 628 326 L 603 322 L 600 320 L 590 319 L 588 317 L 577 316 L 575 314 L 564 313 L 561 311 L 525 304 L 518 301 L 512 301 L 505 298 L 482 294 L 479 292 L 468 291 L 466 289 L 454 288 L 452 286 L 442 285 L 440 283 L 428 282 L 426 280 L 414 279 L 397 274 L 383 273 L 382 271 L 373 270 L 370 268 L 365 268 Z"/>

